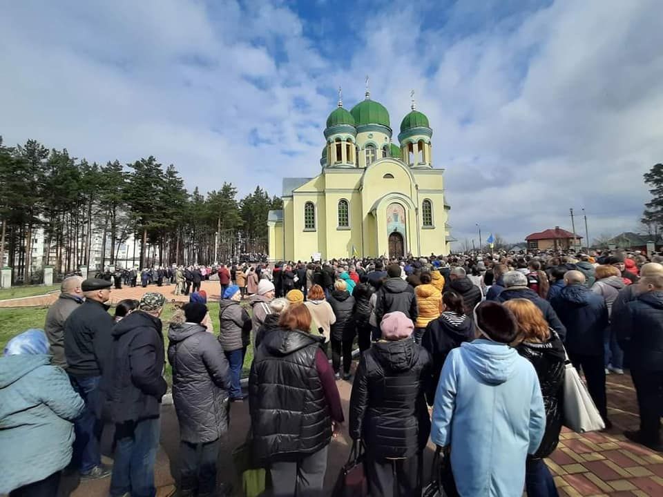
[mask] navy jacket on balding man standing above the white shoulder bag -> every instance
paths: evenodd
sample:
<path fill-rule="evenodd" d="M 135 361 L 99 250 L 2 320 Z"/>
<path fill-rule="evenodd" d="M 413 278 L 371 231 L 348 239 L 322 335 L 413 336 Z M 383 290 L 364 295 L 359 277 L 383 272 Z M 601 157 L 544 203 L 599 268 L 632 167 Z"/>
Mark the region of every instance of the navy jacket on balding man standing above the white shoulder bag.
<path fill-rule="evenodd" d="M 582 284 L 564 286 L 550 301 L 566 327 L 566 350 L 583 355 L 602 355 L 603 334 L 608 327 L 606 300 Z"/>

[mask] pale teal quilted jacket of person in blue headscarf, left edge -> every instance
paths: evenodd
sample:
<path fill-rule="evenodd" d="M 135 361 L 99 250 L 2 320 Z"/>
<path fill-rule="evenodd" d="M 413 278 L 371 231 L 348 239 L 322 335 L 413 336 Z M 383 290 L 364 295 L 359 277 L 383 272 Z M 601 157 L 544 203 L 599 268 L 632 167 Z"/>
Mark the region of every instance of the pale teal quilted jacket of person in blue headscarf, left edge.
<path fill-rule="evenodd" d="M 71 460 L 83 400 L 50 355 L 0 358 L 0 494 L 43 480 Z"/>

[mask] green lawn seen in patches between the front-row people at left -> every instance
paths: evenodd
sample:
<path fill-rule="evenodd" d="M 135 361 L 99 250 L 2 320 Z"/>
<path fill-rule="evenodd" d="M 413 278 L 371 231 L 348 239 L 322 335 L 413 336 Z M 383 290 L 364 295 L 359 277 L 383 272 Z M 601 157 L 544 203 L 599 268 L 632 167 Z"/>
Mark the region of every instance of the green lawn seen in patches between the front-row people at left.
<path fill-rule="evenodd" d="M 42 287 L 44 288 L 44 287 Z M 220 329 L 219 322 L 219 304 L 217 302 L 211 302 L 207 304 L 209 308 L 209 313 L 212 318 L 214 325 L 214 331 L 218 334 Z M 4 349 L 7 342 L 12 338 L 26 331 L 30 328 L 44 329 L 44 321 L 46 320 L 46 311 L 47 307 L 21 307 L 21 308 L 0 308 L 0 351 Z M 250 308 L 247 309 L 249 314 L 251 313 Z M 111 313 L 113 310 L 111 309 Z M 173 304 L 166 304 L 164 312 L 161 315 L 161 320 L 164 323 L 164 342 L 165 347 L 168 349 L 168 322 L 171 319 L 173 313 L 175 312 L 175 306 Z M 242 376 L 249 375 L 249 369 L 251 368 L 251 362 L 253 361 L 253 345 L 249 345 L 247 349 L 247 356 L 244 358 L 244 369 L 242 371 Z M 166 358 L 166 373 L 165 378 L 168 384 L 172 382 L 173 373 L 171 371 L 171 365 Z"/>

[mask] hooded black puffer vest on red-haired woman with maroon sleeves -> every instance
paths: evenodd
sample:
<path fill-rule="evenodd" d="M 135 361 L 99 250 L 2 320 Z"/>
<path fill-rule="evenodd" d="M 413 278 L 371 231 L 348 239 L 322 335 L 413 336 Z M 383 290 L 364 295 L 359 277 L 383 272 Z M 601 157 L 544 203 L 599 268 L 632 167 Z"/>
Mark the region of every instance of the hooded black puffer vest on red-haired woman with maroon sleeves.
<path fill-rule="evenodd" d="M 314 454 L 332 438 L 332 418 L 316 369 L 324 337 L 278 329 L 256 350 L 249 376 L 253 456 L 265 462 Z"/>

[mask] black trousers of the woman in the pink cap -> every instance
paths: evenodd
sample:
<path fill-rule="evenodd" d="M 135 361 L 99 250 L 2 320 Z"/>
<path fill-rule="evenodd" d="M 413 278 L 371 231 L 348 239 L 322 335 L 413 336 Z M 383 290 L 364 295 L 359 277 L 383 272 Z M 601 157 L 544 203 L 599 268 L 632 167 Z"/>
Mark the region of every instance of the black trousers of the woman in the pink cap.
<path fill-rule="evenodd" d="M 372 496 L 421 495 L 421 456 L 407 459 L 375 459 L 366 455 L 364 469 Z"/>

